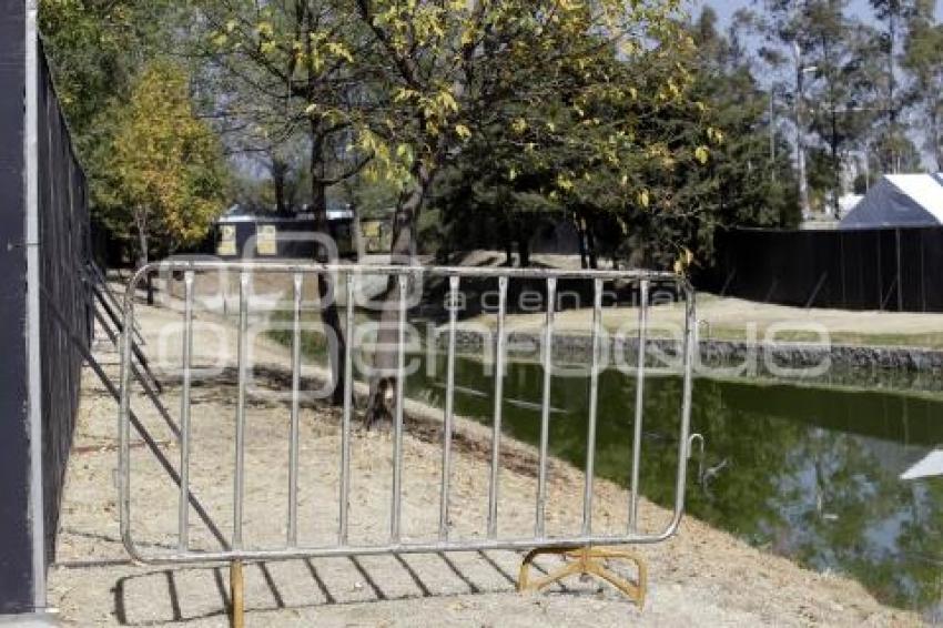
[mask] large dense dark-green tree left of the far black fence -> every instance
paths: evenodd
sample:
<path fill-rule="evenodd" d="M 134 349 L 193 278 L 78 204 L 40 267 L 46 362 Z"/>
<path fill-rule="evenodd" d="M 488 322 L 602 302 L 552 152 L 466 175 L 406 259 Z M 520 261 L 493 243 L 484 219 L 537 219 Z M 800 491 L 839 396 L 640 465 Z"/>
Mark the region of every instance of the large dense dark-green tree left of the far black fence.
<path fill-rule="evenodd" d="M 685 249 L 707 262 L 718 226 L 795 225 L 788 143 L 774 132 L 771 153 L 769 101 L 746 52 L 716 24 L 706 9 L 689 31 L 693 48 L 672 55 L 691 72 L 683 101 L 639 93 L 596 102 L 584 113 L 600 124 L 564 114 L 572 98 L 559 82 L 547 90 L 554 95 L 527 108 L 527 120 L 509 104 L 501 118 L 517 121 L 518 131 L 480 129 L 433 188 L 430 205 L 447 241 L 458 247 L 469 241 L 504 245 L 509 264 L 516 246 L 526 265 L 534 233 L 546 222 L 571 220 L 582 235 L 585 267 L 597 267 L 602 255 L 614 264 L 671 267 Z M 647 58 L 612 58 L 599 68 L 617 82 L 670 80 L 670 70 Z M 605 143 L 620 120 L 645 124 L 623 128 L 635 139 L 630 150 L 614 151 L 615 163 L 559 139 Z M 539 132 L 548 124 L 554 134 Z"/>

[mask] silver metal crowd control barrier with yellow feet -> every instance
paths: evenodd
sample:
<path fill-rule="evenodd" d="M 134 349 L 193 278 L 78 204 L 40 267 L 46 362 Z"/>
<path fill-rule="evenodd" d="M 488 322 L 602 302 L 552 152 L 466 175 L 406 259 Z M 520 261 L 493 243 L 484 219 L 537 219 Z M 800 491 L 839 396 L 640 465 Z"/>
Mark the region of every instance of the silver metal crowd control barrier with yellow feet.
<path fill-rule="evenodd" d="M 131 529 L 131 477 L 130 477 L 130 438 L 133 413 L 130 412 L 130 388 L 134 364 L 132 361 L 131 334 L 135 330 L 135 303 L 134 294 L 138 282 L 145 273 L 158 271 L 161 273 L 174 273 L 183 276 L 183 364 L 181 387 L 181 422 L 178 440 L 180 444 L 179 477 L 175 478 L 180 488 L 179 521 L 178 521 L 178 548 L 168 551 L 144 553 L 135 543 Z M 193 345 L 193 311 L 194 311 L 194 277 L 200 273 L 226 272 L 240 274 L 240 306 L 239 306 L 239 364 L 237 364 L 237 396 L 235 411 L 235 468 L 233 486 L 233 530 L 232 536 L 221 540 L 222 549 L 217 551 L 195 550 L 191 548 L 189 538 L 189 511 L 190 504 L 195 503 L 195 496 L 190 487 L 190 453 L 191 453 L 191 416 L 190 395 L 192 385 L 192 345 Z M 288 495 L 290 508 L 287 520 L 287 535 L 280 547 L 268 549 L 247 549 L 243 546 L 243 505 L 244 505 L 244 475 L 245 475 L 245 422 L 246 422 L 246 383 L 247 369 L 247 318 L 249 318 L 249 285 L 253 273 L 284 273 L 292 276 L 293 282 L 293 324 L 292 324 L 292 395 L 290 407 L 290 454 L 285 464 L 288 465 Z M 448 527 L 450 473 L 453 455 L 454 433 L 454 397 L 455 397 L 455 357 L 456 357 L 456 328 L 458 324 L 457 307 L 449 307 L 449 320 L 447 331 L 446 353 L 446 398 L 444 408 L 444 427 L 442 439 L 443 470 L 439 497 L 439 521 L 437 535 L 423 541 L 404 541 L 400 537 L 400 510 L 402 510 L 402 477 L 403 477 L 403 432 L 404 432 L 404 395 L 403 377 L 398 377 L 397 396 L 395 398 L 394 413 L 394 437 L 393 437 L 393 494 L 389 534 L 382 541 L 373 545 L 353 545 L 348 541 L 348 509 L 351 492 L 351 438 L 352 421 L 354 418 L 353 398 L 353 361 L 352 344 L 346 345 L 345 381 L 351 383 L 345 387 L 343 419 L 341 425 L 341 468 L 339 468 L 339 495 L 336 507 L 338 509 L 338 527 L 336 529 L 336 541 L 320 547 L 305 547 L 297 540 L 297 484 L 298 484 L 298 411 L 300 411 L 300 372 L 301 372 L 301 310 L 302 286 L 305 277 L 331 275 L 337 290 L 346 291 L 346 304 L 342 308 L 346 315 L 346 337 L 353 337 L 354 313 L 355 313 L 355 276 L 395 276 L 395 287 L 398 290 L 397 321 L 398 343 L 396 345 L 398 365 L 402 372 L 405 356 L 405 334 L 407 323 L 407 291 L 410 277 L 439 277 L 447 281 L 449 303 L 458 303 L 459 288 L 465 278 L 495 278 L 498 286 L 498 314 L 496 331 L 496 369 L 494 389 L 494 422 L 490 449 L 490 474 L 487 507 L 487 535 L 486 538 L 462 539 L 453 538 Z M 503 375 L 504 363 L 507 352 L 506 311 L 508 283 L 515 280 L 529 280 L 546 282 L 547 303 L 546 321 L 543 337 L 543 403 L 540 412 L 540 439 L 537 477 L 537 499 L 534 509 L 534 534 L 526 537 L 504 538 L 498 530 L 498 492 L 499 492 L 499 459 L 501 448 L 501 408 L 503 408 Z M 582 524 L 579 534 L 572 536 L 547 536 L 545 531 L 545 510 L 547 503 L 547 464 L 548 440 L 550 418 L 550 389 L 551 366 L 555 334 L 555 310 L 556 292 L 558 282 L 561 280 L 585 280 L 592 283 L 592 356 L 589 375 L 589 407 L 588 407 L 588 433 L 585 488 L 582 495 Z M 605 282 L 631 282 L 640 294 L 639 325 L 638 325 L 638 362 L 636 365 L 636 396 L 635 399 L 626 399 L 626 407 L 633 408 L 633 444 L 630 465 L 630 493 L 628 509 L 628 529 L 620 535 L 599 535 L 594 533 L 592 527 L 592 498 L 594 498 L 594 472 L 596 452 L 596 428 L 599 395 L 599 356 L 602 342 L 602 294 Z M 668 525 L 657 534 L 642 534 L 638 527 L 638 500 L 639 500 L 639 469 L 641 465 L 642 449 L 642 423 L 643 423 L 643 398 L 646 376 L 646 342 L 649 315 L 649 290 L 653 283 L 670 283 L 685 297 L 685 336 L 682 343 L 682 399 L 680 404 L 680 433 L 678 434 L 678 460 L 677 480 L 675 486 L 673 515 Z M 230 563 L 232 566 L 232 585 L 234 587 L 234 599 L 241 599 L 241 580 L 243 561 L 262 561 L 278 559 L 300 559 L 331 556 L 363 556 L 382 554 L 407 554 L 407 553 L 448 553 L 448 551 L 476 551 L 476 550 L 529 550 L 521 567 L 519 586 L 528 588 L 531 585 L 539 588 L 550 581 L 570 573 L 594 574 L 606 578 L 617 587 L 641 602 L 645 596 L 645 566 L 641 560 L 625 550 L 612 550 L 607 553 L 605 547 L 622 546 L 633 544 L 653 544 L 668 539 L 678 529 L 685 504 L 685 488 L 687 476 L 687 459 L 689 457 L 690 437 L 690 412 L 691 412 L 691 386 L 692 386 L 692 362 L 696 351 L 697 322 L 694 317 L 694 294 L 686 280 L 670 273 L 643 272 L 643 271 L 557 271 L 557 270 L 531 270 L 531 269 L 494 269 L 494 267 L 418 267 L 418 266 L 369 266 L 369 265 L 322 265 L 322 264 L 288 264 L 288 263 L 256 263 L 256 262 L 215 262 L 215 261 L 170 261 L 151 264 L 141 269 L 132 278 L 124 298 L 124 325 L 122 330 L 122 371 L 121 371 L 121 403 L 120 403 L 120 514 L 121 534 L 128 553 L 135 560 L 143 564 L 169 565 L 169 564 L 197 564 L 197 563 Z M 632 411 L 629 411 L 632 412 Z M 627 412 L 627 414 L 629 414 Z M 627 465 L 628 466 L 628 465 Z M 537 583 L 530 581 L 527 567 L 534 557 L 541 553 L 567 554 L 575 558 L 564 571 L 550 575 Z M 615 577 L 601 567 L 601 558 L 629 558 L 639 567 L 639 581 L 635 585 Z M 239 589 L 239 590 L 235 590 Z M 239 604 L 234 604 L 234 621 L 241 617 Z M 240 619 L 241 621 L 241 619 Z"/>

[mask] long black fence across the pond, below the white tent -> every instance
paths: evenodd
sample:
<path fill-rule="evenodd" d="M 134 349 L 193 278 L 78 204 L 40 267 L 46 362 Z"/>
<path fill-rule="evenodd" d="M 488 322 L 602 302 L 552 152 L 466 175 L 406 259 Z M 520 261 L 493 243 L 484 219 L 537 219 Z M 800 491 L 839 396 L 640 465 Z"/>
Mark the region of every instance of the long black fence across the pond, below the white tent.
<path fill-rule="evenodd" d="M 943 312 L 943 227 L 731 230 L 700 290 L 751 301 Z"/>

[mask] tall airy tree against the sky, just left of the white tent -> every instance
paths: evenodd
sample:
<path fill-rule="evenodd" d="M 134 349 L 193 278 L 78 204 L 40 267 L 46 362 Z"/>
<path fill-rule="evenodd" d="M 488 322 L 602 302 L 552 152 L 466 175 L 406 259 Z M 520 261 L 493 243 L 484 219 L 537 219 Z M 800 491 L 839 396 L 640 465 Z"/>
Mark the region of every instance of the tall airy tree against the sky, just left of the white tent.
<path fill-rule="evenodd" d="M 792 103 L 800 204 L 838 213 L 853 151 L 880 142 L 873 129 L 889 111 L 880 33 L 848 14 L 848 0 L 757 0 L 750 16 L 763 36 L 760 59 L 773 71 L 771 93 Z"/>

